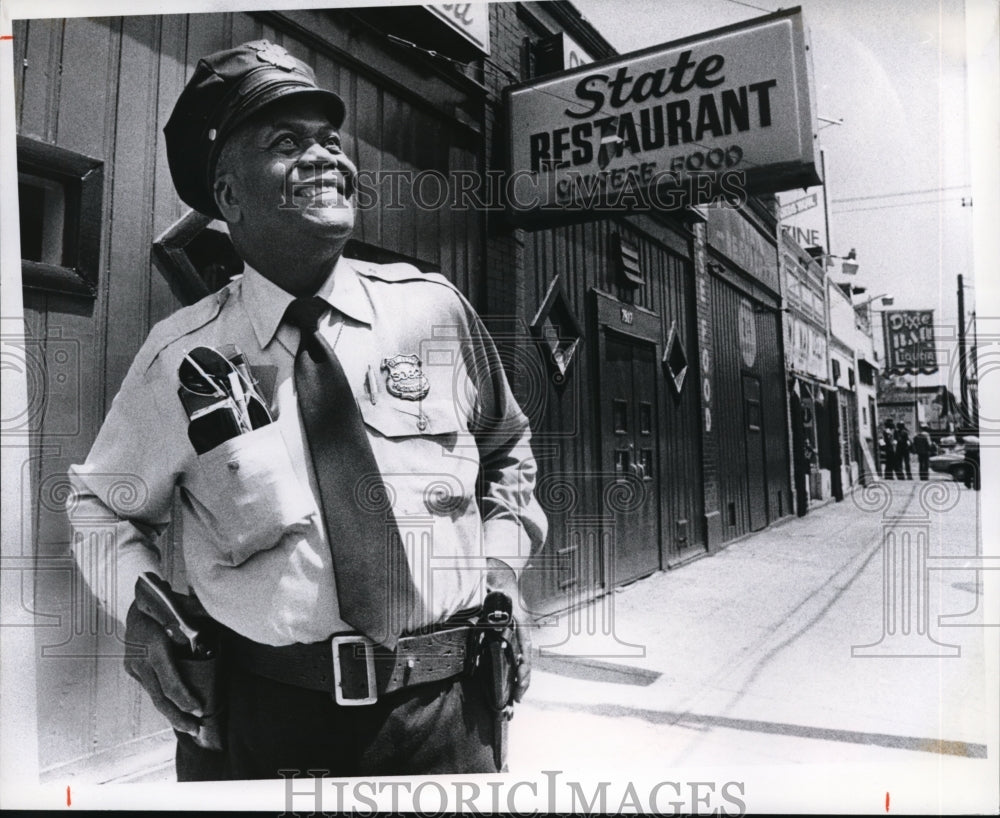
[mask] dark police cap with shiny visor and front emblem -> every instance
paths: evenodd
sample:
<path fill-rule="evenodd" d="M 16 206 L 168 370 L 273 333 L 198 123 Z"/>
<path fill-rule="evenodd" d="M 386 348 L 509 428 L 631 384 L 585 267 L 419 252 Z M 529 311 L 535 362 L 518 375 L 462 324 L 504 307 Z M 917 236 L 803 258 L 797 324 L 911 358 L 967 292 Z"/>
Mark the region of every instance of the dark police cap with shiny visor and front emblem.
<path fill-rule="evenodd" d="M 181 199 L 221 218 L 212 187 L 222 145 L 251 114 L 291 94 L 324 103 L 334 127 L 344 121 L 343 100 L 319 88 L 313 70 L 279 45 L 254 40 L 199 60 L 163 129 Z"/>

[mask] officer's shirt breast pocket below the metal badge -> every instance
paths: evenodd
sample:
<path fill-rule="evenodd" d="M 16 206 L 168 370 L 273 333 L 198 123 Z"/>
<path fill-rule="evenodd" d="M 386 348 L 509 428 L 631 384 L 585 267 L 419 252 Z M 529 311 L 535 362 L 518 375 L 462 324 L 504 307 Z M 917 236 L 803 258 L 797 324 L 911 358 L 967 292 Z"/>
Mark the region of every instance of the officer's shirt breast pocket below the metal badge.
<path fill-rule="evenodd" d="M 454 401 L 361 403 L 397 521 L 462 516 L 479 471 L 474 441 Z"/>

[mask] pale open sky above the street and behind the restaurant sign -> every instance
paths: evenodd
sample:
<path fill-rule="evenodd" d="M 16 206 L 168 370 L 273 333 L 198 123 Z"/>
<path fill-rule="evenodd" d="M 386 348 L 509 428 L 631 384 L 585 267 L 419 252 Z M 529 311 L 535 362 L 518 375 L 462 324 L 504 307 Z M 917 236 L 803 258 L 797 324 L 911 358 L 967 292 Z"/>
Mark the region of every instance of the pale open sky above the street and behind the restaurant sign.
<path fill-rule="evenodd" d="M 621 52 L 777 11 L 754 0 L 573 0 Z M 977 0 L 970 0 L 977 2 Z M 990 0 L 986 0 L 990 2 Z M 972 172 L 963 0 L 801 0 L 826 157 L 830 250 L 893 309 L 933 309 L 957 335 L 956 276 L 972 280 Z M 623 13 L 626 12 L 627 13 Z M 831 124 L 823 120 L 836 120 Z M 809 192 L 820 191 L 811 188 Z M 919 191 L 919 192 L 918 192 Z M 781 195 L 788 202 L 802 190 Z M 820 200 L 822 197 L 820 197 Z M 823 235 L 822 205 L 788 223 Z M 835 277 L 835 280 L 847 280 Z"/>

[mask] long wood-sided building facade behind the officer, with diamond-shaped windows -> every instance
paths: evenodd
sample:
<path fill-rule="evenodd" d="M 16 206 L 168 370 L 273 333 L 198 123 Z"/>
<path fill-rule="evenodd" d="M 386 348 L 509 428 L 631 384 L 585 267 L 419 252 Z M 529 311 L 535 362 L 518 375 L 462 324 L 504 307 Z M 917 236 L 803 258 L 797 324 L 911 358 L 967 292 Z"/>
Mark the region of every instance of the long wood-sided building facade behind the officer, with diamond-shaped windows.
<path fill-rule="evenodd" d="M 538 613 L 792 513 L 789 383 L 799 385 L 802 428 L 810 401 L 815 417 L 809 485 L 813 465 L 839 469 L 822 440 L 838 422 L 856 426 L 830 408 L 853 370 L 827 384 L 810 346 L 804 368 L 786 375 L 773 200 L 515 228 L 488 187 L 506 168 L 503 89 L 613 50 L 566 2 L 463 15 L 414 7 L 16 23 L 25 322 L 41 373 L 28 384 L 39 410 L 24 430 L 18 490 L 33 524 L 21 548 L 35 566 L 26 581 L 46 776 L 165 727 L 122 670 L 120 627 L 73 565 L 60 497 L 151 326 L 241 270 L 224 225 L 177 198 L 162 139 L 204 54 L 264 37 L 308 61 L 346 102 L 345 150 L 380 172 L 348 252 L 440 271 L 484 315 L 535 431 L 551 523 L 525 580 Z M 475 206 L 450 195 L 434 207 L 390 206 L 384 185 L 418 177 L 484 187 Z M 814 278 L 801 276 L 799 296 L 810 329 Z M 163 535 L 165 554 L 175 535 Z M 124 715 L 98 717 L 101 701 L 124 703 Z"/>

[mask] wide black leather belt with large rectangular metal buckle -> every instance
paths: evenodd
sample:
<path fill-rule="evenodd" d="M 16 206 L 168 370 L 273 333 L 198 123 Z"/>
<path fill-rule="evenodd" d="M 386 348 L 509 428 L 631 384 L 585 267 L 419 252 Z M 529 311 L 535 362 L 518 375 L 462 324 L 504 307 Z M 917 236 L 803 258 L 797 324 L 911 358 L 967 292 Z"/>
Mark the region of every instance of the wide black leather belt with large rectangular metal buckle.
<path fill-rule="evenodd" d="M 323 642 L 274 647 L 223 629 L 225 655 L 235 667 L 276 682 L 320 690 L 345 706 L 471 671 L 470 625 L 401 636 L 394 651 L 358 633 Z"/>

